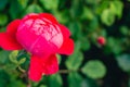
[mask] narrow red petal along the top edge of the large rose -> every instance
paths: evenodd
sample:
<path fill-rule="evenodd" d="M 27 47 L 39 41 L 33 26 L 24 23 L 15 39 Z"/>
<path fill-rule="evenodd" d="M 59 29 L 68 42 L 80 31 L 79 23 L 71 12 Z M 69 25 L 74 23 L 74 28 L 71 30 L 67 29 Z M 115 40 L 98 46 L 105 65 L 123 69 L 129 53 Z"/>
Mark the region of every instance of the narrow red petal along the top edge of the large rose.
<path fill-rule="evenodd" d="M 39 15 L 40 15 L 42 18 L 47 18 L 47 20 L 49 20 L 50 22 L 57 24 L 56 18 L 55 18 L 52 14 L 49 14 L 49 13 L 40 13 Z"/>

